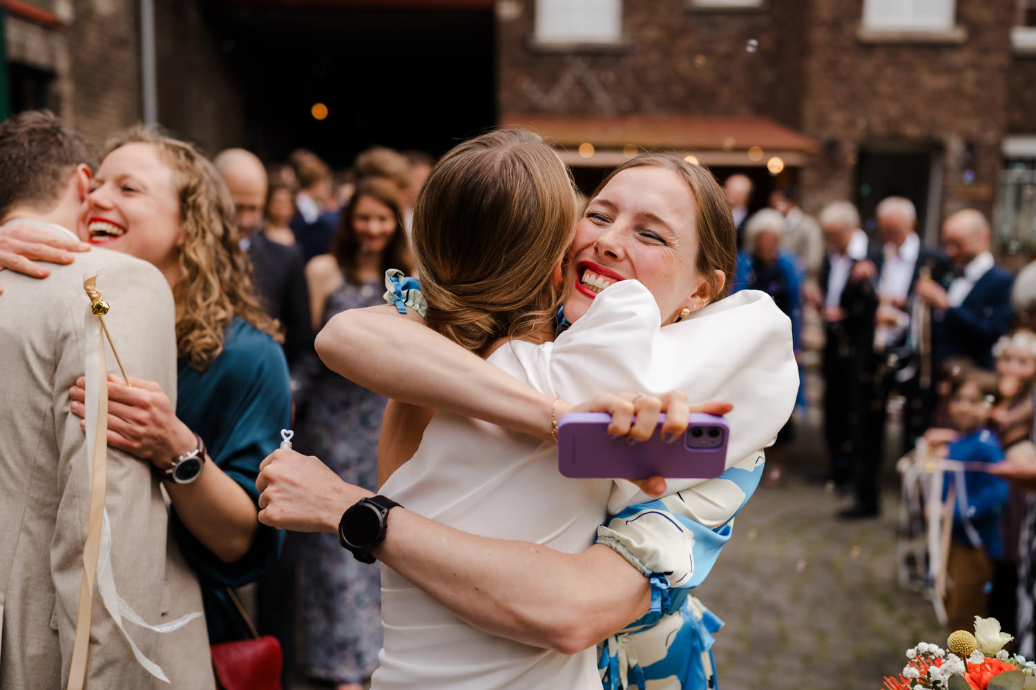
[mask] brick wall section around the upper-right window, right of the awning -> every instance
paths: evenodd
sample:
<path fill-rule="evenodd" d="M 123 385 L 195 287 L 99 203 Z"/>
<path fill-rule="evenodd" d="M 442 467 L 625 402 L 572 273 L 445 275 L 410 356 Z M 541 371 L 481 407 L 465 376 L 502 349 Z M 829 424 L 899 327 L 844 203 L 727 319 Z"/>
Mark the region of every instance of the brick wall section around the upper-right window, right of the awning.
<path fill-rule="evenodd" d="M 813 7 L 803 129 L 838 153 L 803 171 L 807 204 L 853 198 L 861 146 L 913 144 L 943 152 L 941 215 L 965 206 L 989 213 L 1007 126 L 1013 0 L 957 2 L 967 31 L 959 44 L 866 43 L 857 36 L 861 0 Z M 966 166 L 975 172 L 970 185 Z"/>

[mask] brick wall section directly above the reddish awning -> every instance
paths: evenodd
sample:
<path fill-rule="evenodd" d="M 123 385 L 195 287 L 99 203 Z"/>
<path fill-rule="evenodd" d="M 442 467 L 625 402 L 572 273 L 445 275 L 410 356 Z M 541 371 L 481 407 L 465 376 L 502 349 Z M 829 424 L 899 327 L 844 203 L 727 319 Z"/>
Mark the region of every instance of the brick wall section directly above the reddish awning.
<path fill-rule="evenodd" d="M 501 113 L 756 114 L 782 64 L 772 10 L 689 11 L 683 0 L 627 0 L 621 46 L 558 51 L 533 44 L 535 4 L 498 4 Z M 750 40 L 758 41 L 754 52 L 746 50 Z M 793 110 L 784 108 L 781 119 L 794 119 Z"/>

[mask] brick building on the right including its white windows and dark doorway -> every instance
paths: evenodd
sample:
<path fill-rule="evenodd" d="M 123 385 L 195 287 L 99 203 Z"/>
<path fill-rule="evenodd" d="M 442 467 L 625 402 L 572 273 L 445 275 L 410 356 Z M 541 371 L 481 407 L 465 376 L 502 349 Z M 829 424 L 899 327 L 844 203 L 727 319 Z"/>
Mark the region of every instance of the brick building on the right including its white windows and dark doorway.
<path fill-rule="evenodd" d="M 768 153 L 749 157 L 744 137 L 688 152 L 720 177 L 748 172 L 762 191 L 794 184 L 814 213 L 848 199 L 867 217 L 885 196 L 905 194 L 930 240 L 942 217 L 968 206 L 999 219 L 1005 248 L 1017 249 L 1010 241 L 1034 230 L 1032 207 L 1008 203 L 1003 179 L 1008 144 L 1026 149 L 1036 133 L 1036 59 L 1014 36 L 1027 31 L 1025 0 L 943 0 L 928 3 L 942 5 L 942 19 L 891 21 L 883 12 L 910 3 L 585 0 L 596 11 L 617 8 L 620 29 L 572 40 L 538 25 L 538 12 L 554 4 L 497 2 L 497 98 L 507 121 L 765 117 L 815 143 L 776 177 L 760 169 Z M 549 137 L 552 126 L 544 129 Z M 717 158 L 720 150 L 726 155 Z M 1028 198 L 1036 186 L 1013 191 Z"/>

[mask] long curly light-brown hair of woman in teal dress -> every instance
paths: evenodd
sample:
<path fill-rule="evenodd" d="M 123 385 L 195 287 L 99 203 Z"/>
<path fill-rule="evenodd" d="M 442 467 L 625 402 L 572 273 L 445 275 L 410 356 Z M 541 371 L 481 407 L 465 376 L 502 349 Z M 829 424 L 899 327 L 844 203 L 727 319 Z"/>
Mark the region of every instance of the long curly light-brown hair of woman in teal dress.
<path fill-rule="evenodd" d="M 173 173 L 183 245 L 176 302 L 176 356 L 204 371 L 223 352 L 227 328 L 240 317 L 282 341 L 281 327 L 253 291 L 252 263 L 240 246 L 234 204 L 215 168 L 185 142 L 136 126 L 114 134 L 105 155 L 127 144 L 150 144 Z"/>

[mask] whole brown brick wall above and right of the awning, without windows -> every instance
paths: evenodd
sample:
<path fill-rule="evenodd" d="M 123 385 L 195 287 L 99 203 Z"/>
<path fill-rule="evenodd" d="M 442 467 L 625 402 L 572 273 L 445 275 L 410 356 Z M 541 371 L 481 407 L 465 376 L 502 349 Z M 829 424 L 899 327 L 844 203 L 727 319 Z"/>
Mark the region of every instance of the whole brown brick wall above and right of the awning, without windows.
<path fill-rule="evenodd" d="M 863 0 L 626 0 L 623 43 L 599 51 L 537 48 L 535 4 L 497 5 L 501 113 L 769 116 L 825 145 L 799 177 L 807 211 L 855 199 L 859 151 L 876 146 L 941 157 L 932 216 L 990 213 L 1004 133 L 1036 130 L 1036 59 L 1010 51 L 1015 0 L 958 0 L 967 38 L 937 43 L 862 40 Z"/>

